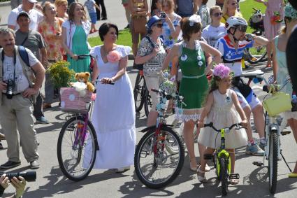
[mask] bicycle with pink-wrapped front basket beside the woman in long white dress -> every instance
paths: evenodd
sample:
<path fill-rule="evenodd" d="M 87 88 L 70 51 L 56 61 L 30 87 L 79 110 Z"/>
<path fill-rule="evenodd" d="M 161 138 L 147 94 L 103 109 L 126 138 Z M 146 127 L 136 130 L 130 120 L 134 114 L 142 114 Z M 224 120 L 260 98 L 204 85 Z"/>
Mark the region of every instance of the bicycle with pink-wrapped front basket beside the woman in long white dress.
<path fill-rule="evenodd" d="M 66 93 L 65 99 L 75 97 L 74 89 L 64 89 L 70 92 Z M 65 92 L 63 88 L 61 90 Z M 70 115 L 59 133 L 57 157 L 62 173 L 72 181 L 81 181 L 89 175 L 96 160 L 96 151 L 99 150 L 96 131 L 89 116 L 94 106 L 94 97 L 91 99 L 92 92 L 87 92 L 84 96 L 75 97 L 70 107 L 66 104 L 64 106 L 64 94 L 61 94 L 61 107 L 64 106 L 62 111 L 74 114 Z"/>

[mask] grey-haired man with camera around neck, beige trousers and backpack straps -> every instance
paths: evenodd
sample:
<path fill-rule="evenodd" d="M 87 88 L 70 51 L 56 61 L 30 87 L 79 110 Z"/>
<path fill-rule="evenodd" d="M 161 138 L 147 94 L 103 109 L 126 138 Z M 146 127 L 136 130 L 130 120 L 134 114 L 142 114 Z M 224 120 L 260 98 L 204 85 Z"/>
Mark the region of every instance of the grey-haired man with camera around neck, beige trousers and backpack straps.
<path fill-rule="evenodd" d="M 20 143 L 22 151 L 31 169 L 38 169 L 36 131 L 34 129 L 33 104 L 38 94 L 45 69 L 33 53 L 26 50 L 29 66 L 20 56 L 15 45 L 15 33 L 12 29 L 0 29 L 0 124 L 8 144 L 8 162 L 1 169 L 10 169 L 20 165 Z"/>

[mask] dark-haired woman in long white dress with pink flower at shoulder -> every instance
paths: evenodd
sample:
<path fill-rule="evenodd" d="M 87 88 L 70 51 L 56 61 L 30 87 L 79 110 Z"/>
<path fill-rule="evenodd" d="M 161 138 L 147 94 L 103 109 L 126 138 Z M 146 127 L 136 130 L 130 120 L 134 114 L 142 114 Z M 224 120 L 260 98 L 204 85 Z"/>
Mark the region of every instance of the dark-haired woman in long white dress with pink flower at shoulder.
<path fill-rule="evenodd" d="M 101 80 L 96 85 L 92 117 L 100 148 L 94 168 L 123 172 L 133 164 L 136 145 L 133 90 L 126 73 L 131 48 L 115 44 L 118 36 L 115 24 L 103 23 L 99 36 L 103 45 L 90 52 L 96 59 L 92 83 L 97 78 Z M 111 82 L 115 85 L 109 85 Z"/>

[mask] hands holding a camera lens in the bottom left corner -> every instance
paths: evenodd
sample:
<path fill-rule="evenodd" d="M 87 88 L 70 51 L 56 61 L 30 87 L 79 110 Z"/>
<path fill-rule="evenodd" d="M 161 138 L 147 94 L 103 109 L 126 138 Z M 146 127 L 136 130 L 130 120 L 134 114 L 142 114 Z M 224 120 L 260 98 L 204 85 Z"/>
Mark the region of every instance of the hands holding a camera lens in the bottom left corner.
<path fill-rule="evenodd" d="M 22 197 L 22 194 L 24 193 L 24 187 L 26 186 L 26 181 L 23 177 L 19 176 L 18 179 L 16 177 L 13 177 L 11 181 L 9 181 L 9 178 L 6 176 L 6 174 L 3 174 L 0 177 L 0 196 L 3 195 L 3 192 L 6 188 L 8 188 L 8 185 L 12 183 L 13 187 L 15 188 L 15 194 L 11 195 L 10 197 L 5 198 L 20 198 Z"/>

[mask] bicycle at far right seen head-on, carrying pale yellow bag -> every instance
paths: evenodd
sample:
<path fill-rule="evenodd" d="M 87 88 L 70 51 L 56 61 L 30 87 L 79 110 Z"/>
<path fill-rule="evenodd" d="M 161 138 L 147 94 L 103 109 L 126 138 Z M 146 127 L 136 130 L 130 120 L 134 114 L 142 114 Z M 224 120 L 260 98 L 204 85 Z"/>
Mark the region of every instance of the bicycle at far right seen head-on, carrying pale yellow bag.
<path fill-rule="evenodd" d="M 266 86 L 263 86 L 263 91 L 269 92 L 267 86 L 272 87 L 275 92 L 271 94 L 275 94 L 276 92 L 280 92 L 282 88 L 279 85 L 270 84 L 266 78 L 263 77 L 263 71 L 253 71 L 251 73 L 242 73 L 242 76 L 245 78 L 249 78 L 249 82 L 254 79 L 262 79 Z M 270 93 L 270 92 L 269 92 Z M 269 94 L 268 93 L 268 94 Z M 265 98 L 263 99 L 263 101 Z M 277 163 L 278 160 L 283 159 L 284 163 L 287 165 L 288 169 L 291 172 L 287 161 L 284 159 L 284 155 L 282 155 L 281 141 L 280 135 L 284 136 L 290 134 L 287 131 L 280 131 L 280 122 L 281 118 L 278 115 L 269 115 L 268 111 L 265 113 L 265 137 L 266 137 L 266 146 L 265 146 L 265 153 L 263 156 L 262 162 L 253 162 L 254 165 L 258 167 L 263 167 L 266 163 L 265 161 L 268 160 L 268 177 L 269 177 L 269 191 L 271 194 L 274 194 L 277 188 Z"/>

